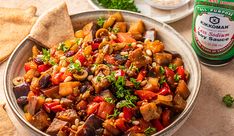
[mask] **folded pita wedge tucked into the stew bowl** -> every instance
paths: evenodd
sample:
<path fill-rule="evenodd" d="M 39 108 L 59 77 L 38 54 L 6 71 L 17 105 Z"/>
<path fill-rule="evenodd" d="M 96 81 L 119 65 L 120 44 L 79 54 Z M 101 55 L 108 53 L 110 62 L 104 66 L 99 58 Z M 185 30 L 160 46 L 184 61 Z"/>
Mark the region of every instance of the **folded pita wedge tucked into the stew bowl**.
<path fill-rule="evenodd" d="M 73 38 L 74 30 L 66 3 L 63 2 L 42 14 L 33 26 L 29 37 L 47 48 Z"/>

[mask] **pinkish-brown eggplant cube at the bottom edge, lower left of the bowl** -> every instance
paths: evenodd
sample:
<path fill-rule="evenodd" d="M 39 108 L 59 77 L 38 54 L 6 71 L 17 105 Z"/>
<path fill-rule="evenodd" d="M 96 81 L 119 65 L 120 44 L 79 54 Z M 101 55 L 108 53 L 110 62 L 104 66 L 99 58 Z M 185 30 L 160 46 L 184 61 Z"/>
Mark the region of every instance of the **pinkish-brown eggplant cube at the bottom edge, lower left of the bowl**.
<path fill-rule="evenodd" d="M 61 128 L 68 125 L 68 122 L 54 118 L 53 122 L 50 124 L 49 128 L 46 130 L 46 133 L 50 135 L 56 135 Z"/>

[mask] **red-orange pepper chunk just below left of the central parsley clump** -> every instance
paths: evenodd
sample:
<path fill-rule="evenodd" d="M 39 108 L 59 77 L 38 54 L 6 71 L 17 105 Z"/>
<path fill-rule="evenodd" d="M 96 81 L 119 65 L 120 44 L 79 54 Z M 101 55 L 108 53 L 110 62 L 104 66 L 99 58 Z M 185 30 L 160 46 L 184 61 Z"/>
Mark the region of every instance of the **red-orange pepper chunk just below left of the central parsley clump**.
<path fill-rule="evenodd" d="M 102 119 L 106 119 L 108 115 L 113 114 L 114 108 L 114 104 L 101 102 L 98 108 L 97 115 Z"/>

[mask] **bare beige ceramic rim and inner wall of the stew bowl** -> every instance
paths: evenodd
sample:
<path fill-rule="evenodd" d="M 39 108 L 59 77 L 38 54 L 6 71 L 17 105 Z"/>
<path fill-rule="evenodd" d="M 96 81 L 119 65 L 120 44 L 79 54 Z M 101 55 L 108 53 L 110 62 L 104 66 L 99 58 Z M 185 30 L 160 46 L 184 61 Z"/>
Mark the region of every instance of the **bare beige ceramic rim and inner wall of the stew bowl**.
<path fill-rule="evenodd" d="M 82 28 L 85 24 L 90 21 L 96 21 L 100 16 L 107 17 L 108 14 L 114 13 L 116 11 L 110 10 L 100 10 L 100 11 L 88 11 L 72 15 L 72 22 L 74 29 L 77 30 Z M 166 45 L 166 50 L 175 51 L 181 54 L 183 61 L 185 63 L 185 68 L 190 72 L 190 81 L 188 87 L 191 91 L 191 95 L 187 100 L 187 107 L 178 116 L 178 118 L 167 128 L 158 132 L 156 135 L 171 135 L 174 133 L 188 118 L 189 114 L 192 112 L 196 97 L 199 92 L 200 82 L 201 82 L 201 68 L 198 58 L 195 52 L 188 44 L 188 42 L 181 37 L 173 28 L 170 26 L 156 21 L 154 19 L 148 18 L 141 14 L 121 11 L 126 22 L 134 22 L 138 19 L 142 19 L 147 27 L 147 29 L 155 28 L 157 30 L 158 38 L 164 42 Z M 19 120 L 19 122 L 34 135 L 46 135 L 44 132 L 33 127 L 29 122 L 27 122 L 23 116 L 23 111 L 16 103 L 16 99 L 13 93 L 12 79 L 16 76 L 23 75 L 24 63 L 32 55 L 31 48 L 34 43 L 28 38 L 23 40 L 21 44 L 15 49 L 11 55 L 7 68 L 4 75 L 4 92 L 7 98 L 7 102 L 10 105 L 13 113 Z"/>

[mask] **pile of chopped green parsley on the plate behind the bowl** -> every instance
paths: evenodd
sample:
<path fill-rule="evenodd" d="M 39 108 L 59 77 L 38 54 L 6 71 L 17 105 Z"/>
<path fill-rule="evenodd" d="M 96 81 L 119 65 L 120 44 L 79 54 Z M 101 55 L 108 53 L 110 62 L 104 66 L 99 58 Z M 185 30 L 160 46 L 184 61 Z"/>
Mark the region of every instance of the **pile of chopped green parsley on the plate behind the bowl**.
<path fill-rule="evenodd" d="M 108 9 L 122 9 L 139 12 L 134 0 L 98 0 L 99 4 Z"/>

